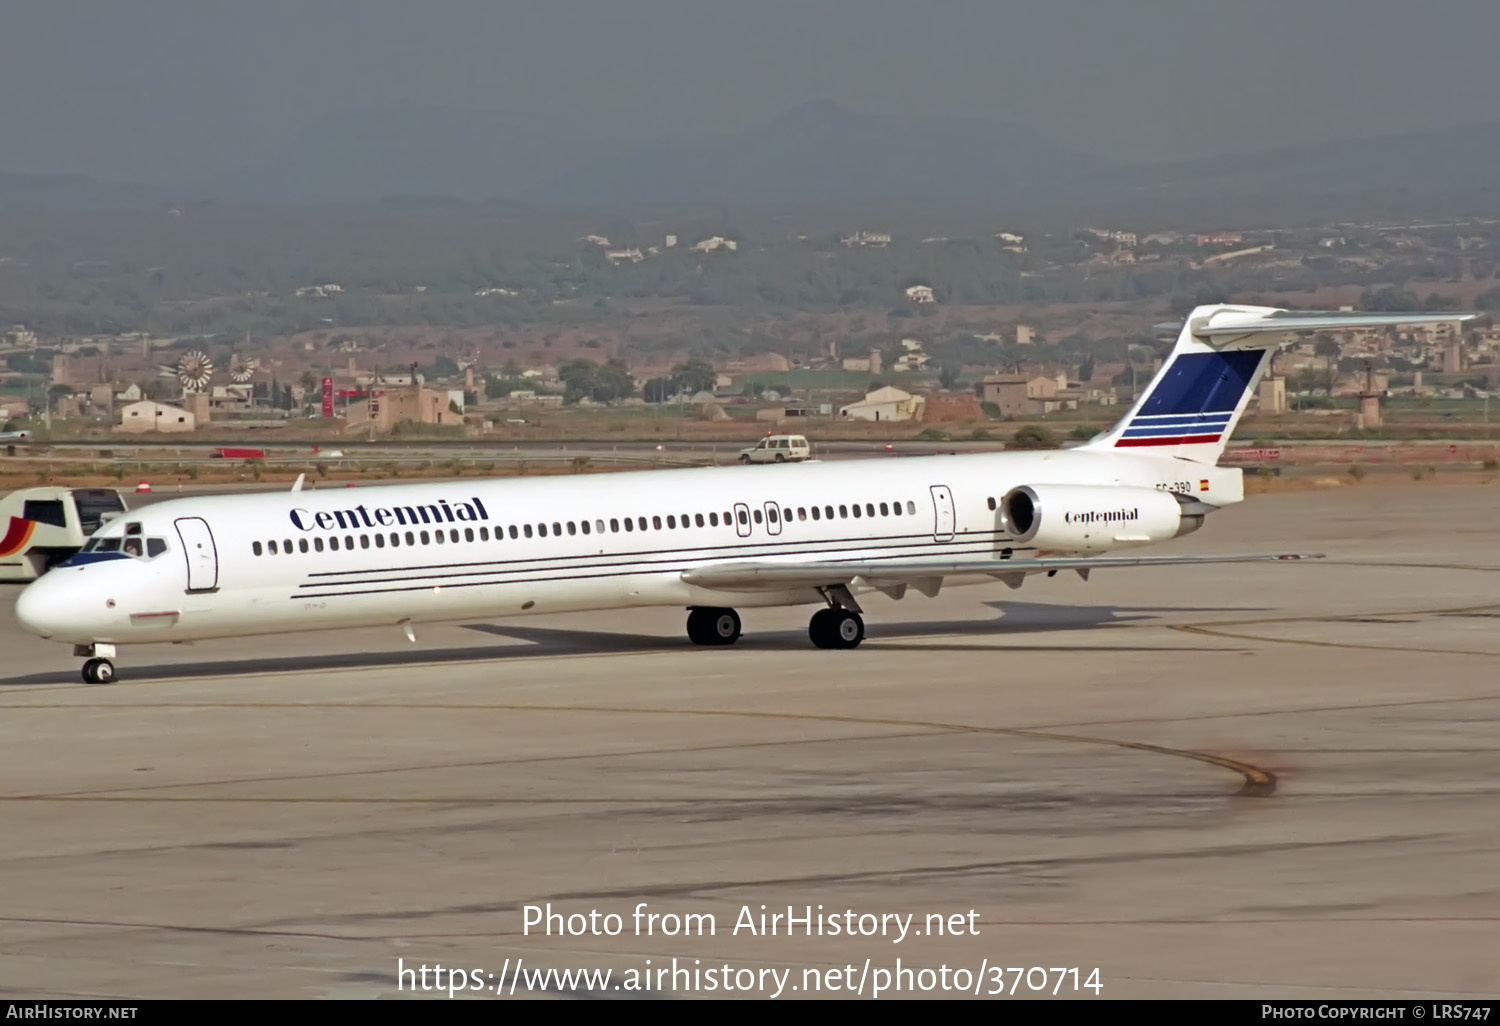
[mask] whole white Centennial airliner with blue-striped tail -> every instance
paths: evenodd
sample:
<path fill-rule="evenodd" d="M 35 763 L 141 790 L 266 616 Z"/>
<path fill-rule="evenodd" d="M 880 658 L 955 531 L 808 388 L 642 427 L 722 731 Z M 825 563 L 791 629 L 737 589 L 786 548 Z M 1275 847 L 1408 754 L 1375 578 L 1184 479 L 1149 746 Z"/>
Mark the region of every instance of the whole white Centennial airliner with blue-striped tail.
<path fill-rule="evenodd" d="M 729 645 L 736 606 L 818 603 L 813 644 L 854 648 L 872 591 L 1300 558 L 1102 554 L 1244 498 L 1215 462 L 1292 333 L 1473 316 L 1202 306 L 1131 411 L 1070 450 L 172 500 L 99 528 L 16 618 L 88 682 L 123 644 L 628 606 L 687 608 L 693 642 Z"/>

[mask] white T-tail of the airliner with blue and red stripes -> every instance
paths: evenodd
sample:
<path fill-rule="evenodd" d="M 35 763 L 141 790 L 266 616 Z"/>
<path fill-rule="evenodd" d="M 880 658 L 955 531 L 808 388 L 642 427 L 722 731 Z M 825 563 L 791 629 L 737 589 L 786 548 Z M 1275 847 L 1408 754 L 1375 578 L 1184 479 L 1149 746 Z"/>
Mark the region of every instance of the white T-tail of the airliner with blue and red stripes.
<path fill-rule="evenodd" d="M 1084 448 L 1215 464 L 1270 366 L 1270 357 L 1293 345 L 1298 332 L 1455 322 L 1478 316 L 1200 306 L 1188 315 L 1172 356 L 1130 412 Z"/>

